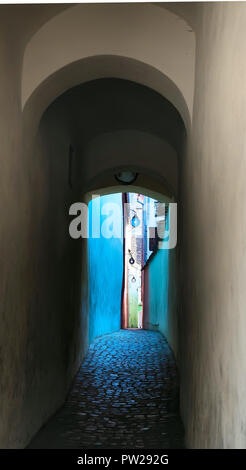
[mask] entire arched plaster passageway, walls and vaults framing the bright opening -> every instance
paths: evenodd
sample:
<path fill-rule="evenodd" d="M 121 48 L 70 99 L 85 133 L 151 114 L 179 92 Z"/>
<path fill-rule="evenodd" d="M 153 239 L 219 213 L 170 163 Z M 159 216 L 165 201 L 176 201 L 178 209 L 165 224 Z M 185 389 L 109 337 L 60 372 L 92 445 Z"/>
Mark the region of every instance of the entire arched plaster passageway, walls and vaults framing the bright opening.
<path fill-rule="evenodd" d="M 88 351 L 87 244 L 69 208 L 127 167 L 178 202 L 165 336 L 186 445 L 245 448 L 245 5 L 0 13 L 0 446 L 28 445 Z"/>

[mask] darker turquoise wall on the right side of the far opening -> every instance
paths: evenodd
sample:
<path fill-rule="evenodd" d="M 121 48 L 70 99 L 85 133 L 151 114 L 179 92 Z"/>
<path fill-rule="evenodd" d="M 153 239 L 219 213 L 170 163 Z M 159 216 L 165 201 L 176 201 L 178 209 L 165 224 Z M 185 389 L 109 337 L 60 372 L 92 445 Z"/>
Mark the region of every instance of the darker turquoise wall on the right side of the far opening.
<path fill-rule="evenodd" d="M 144 269 L 144 328 L 160 331 L 177 357 L 176 249 L 160 249 Z"/>

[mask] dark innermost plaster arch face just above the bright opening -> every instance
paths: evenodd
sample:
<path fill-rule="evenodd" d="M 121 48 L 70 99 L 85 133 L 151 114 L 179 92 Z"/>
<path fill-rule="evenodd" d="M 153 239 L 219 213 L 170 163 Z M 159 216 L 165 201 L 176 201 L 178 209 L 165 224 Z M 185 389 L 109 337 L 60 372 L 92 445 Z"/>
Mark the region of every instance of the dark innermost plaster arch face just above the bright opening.
<path fill-rule="evenodd" d="M 83 174 L 90 181 L 98 174 L 114 168 L 134 166 L 141 171 L 155 171 L 164 178 L 173 194 L 177 192 L 177 153 L 165 140 L 135 130 L 100 134 L 84 151 Z"/>

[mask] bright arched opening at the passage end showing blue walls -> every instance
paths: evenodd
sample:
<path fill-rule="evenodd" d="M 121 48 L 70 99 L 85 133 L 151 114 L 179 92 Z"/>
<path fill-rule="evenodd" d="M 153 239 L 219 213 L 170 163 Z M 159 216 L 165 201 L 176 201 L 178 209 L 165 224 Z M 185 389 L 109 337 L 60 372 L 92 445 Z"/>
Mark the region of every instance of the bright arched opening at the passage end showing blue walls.
<path fill-rule="evenodd" d="M 175 318 L 175 252 L 162 249 L 170 201 L 158 194 L 131 187 L 90 200 L 89 343 L 120 329 L 165 335 Z"/>

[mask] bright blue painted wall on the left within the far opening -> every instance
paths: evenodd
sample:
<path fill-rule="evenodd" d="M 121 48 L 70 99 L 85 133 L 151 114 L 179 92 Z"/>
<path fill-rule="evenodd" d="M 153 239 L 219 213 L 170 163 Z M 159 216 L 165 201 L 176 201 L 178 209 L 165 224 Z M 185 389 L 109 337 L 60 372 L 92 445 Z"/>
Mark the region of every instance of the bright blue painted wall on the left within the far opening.
<path fill-rule="evenodd" d="M 108 203 L 117 204 L 118 211 L 111 220 L 103 212 Z M 107 204 L 107 205 L 106 205 Z M 92 212 L 95 218 L 93 219 Z M 108 213 L 109 217 L 113 215 Z M 106 219 L 109 221 L 107 224 Z M 100 226 L 97 222 L 100 220 Z M 100 238 L 92 238 L 94 234 Z M 116 228 L 120 238 L 105 238 L 100 228 L 107 224 L 108 234 Z M 116 227 L 117 224 L 117 227 Z M 100 230 L 100 232 L 99 232 Z M 123 220 L 122 195 L 111 194 L 95 198 L 89 203 L 89 343 L 97 336 L 117 331 L 121 327 L 121 290 L 123 278 Z"/>

